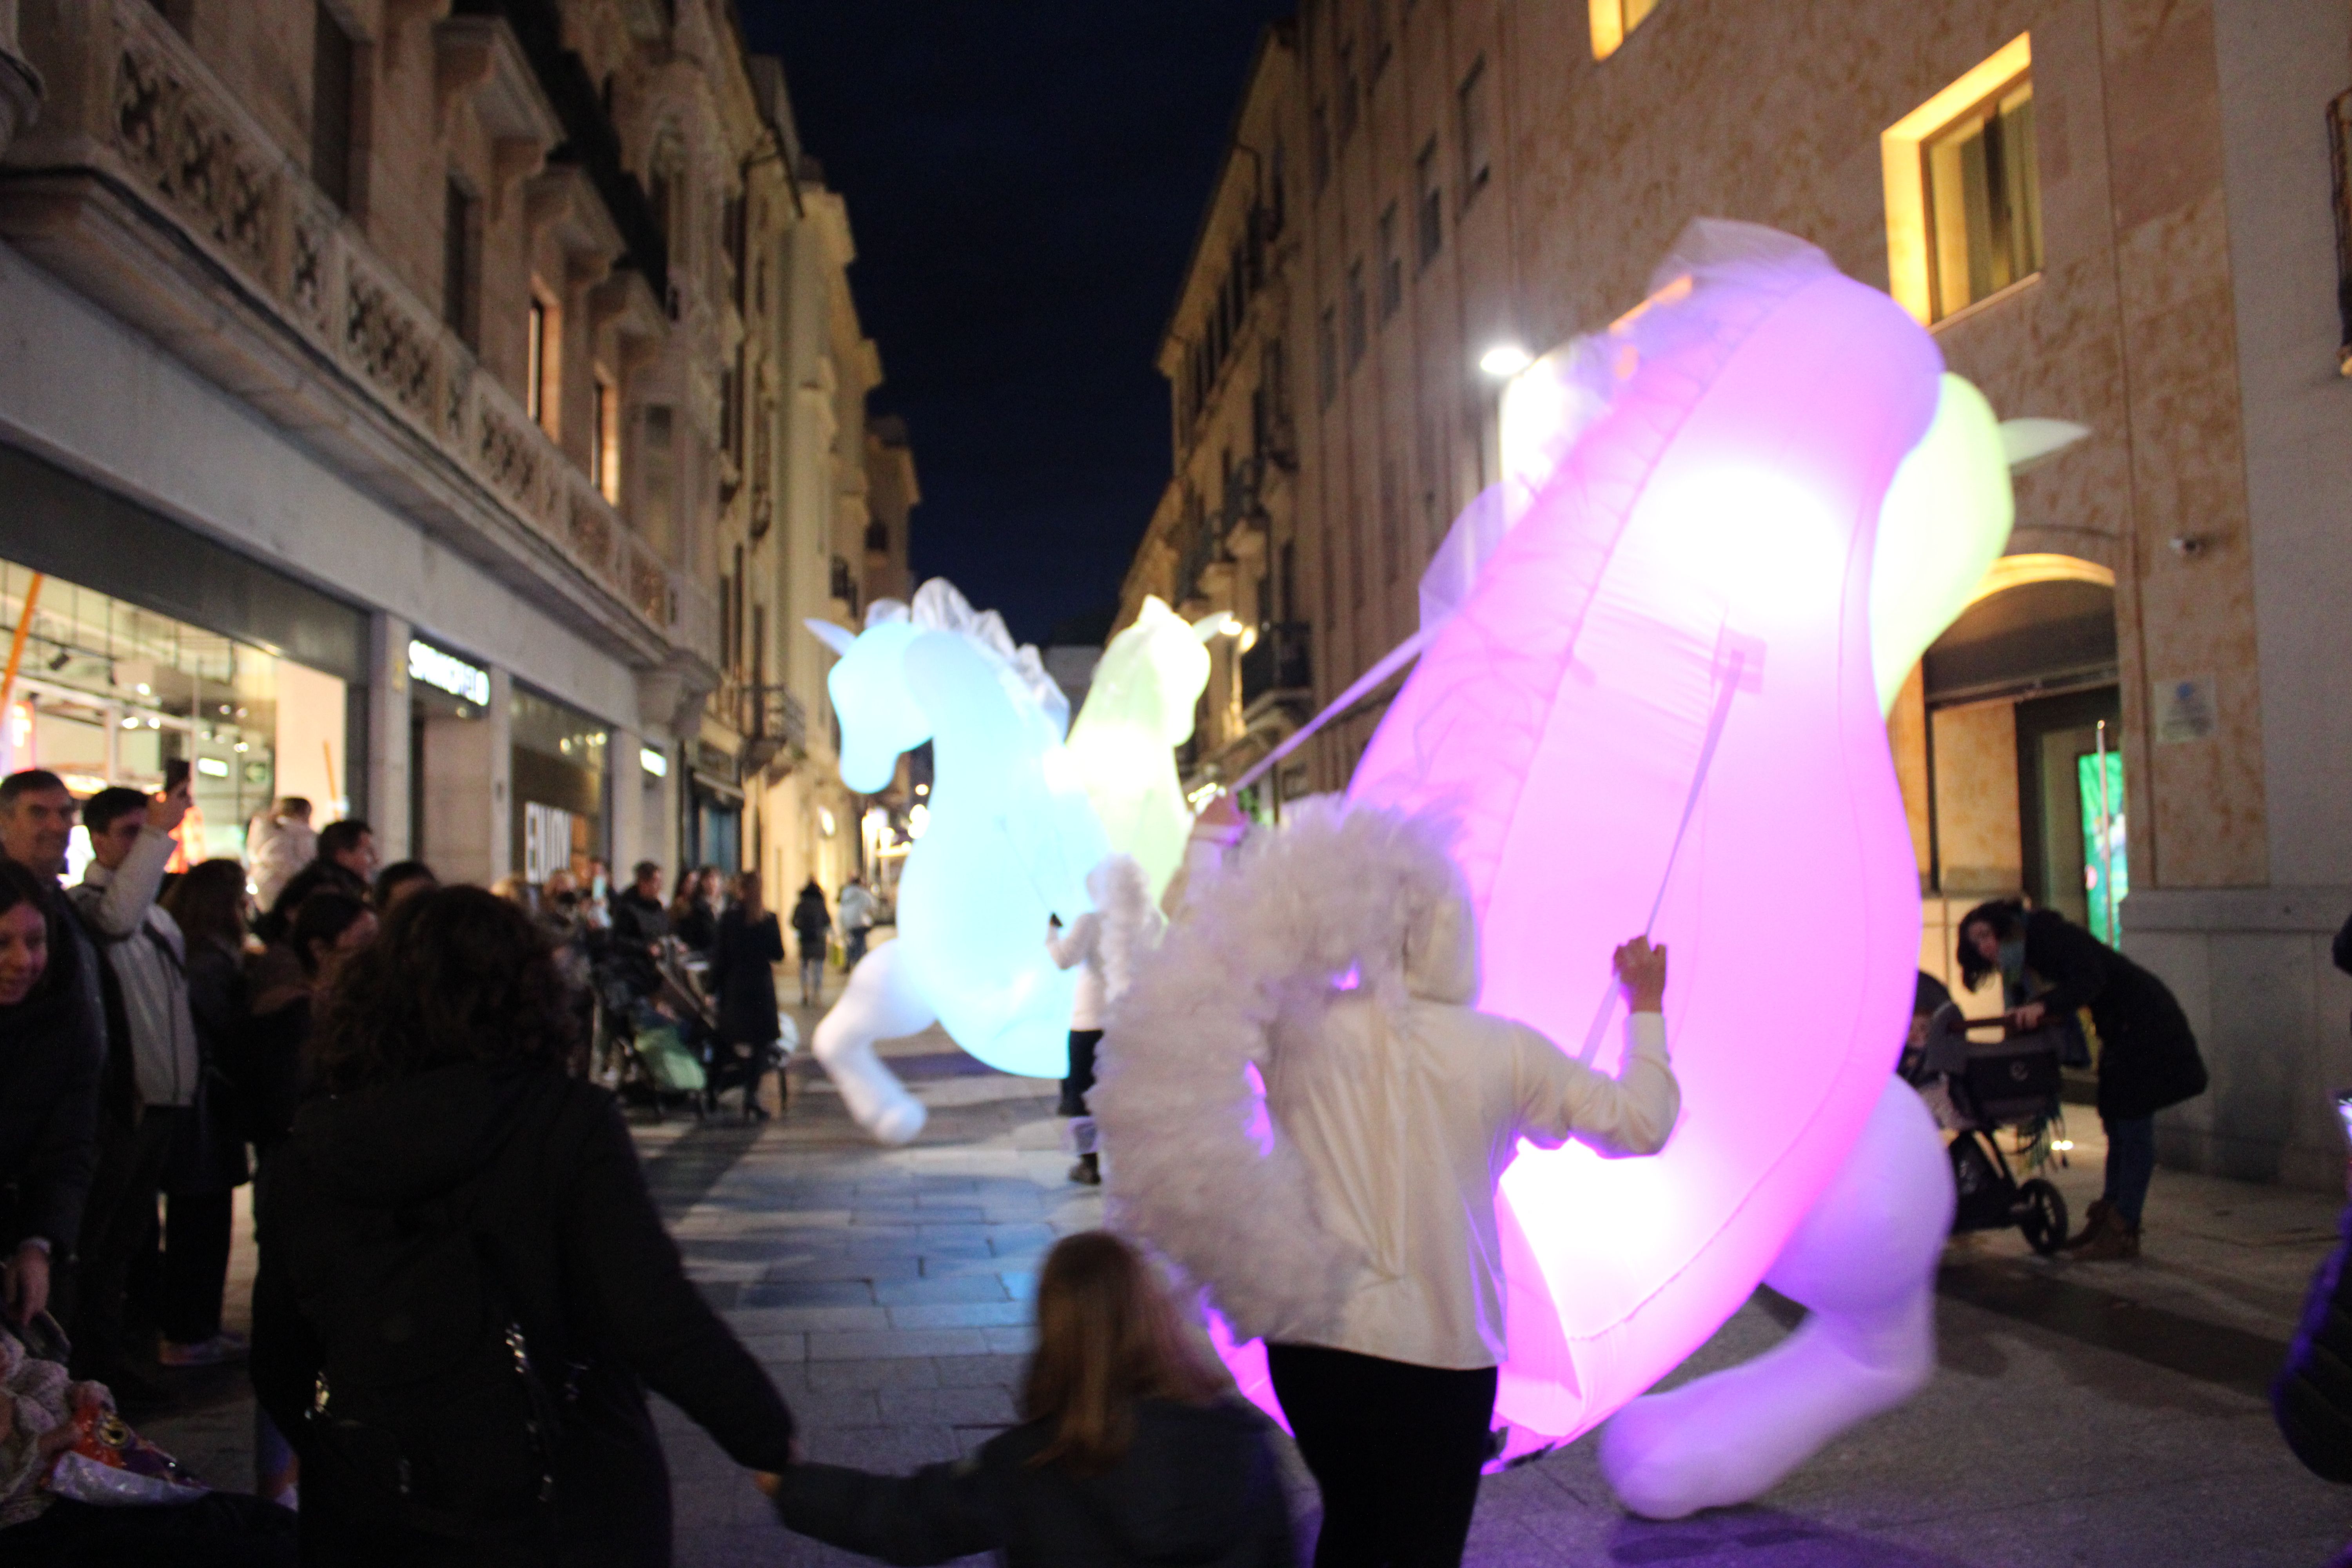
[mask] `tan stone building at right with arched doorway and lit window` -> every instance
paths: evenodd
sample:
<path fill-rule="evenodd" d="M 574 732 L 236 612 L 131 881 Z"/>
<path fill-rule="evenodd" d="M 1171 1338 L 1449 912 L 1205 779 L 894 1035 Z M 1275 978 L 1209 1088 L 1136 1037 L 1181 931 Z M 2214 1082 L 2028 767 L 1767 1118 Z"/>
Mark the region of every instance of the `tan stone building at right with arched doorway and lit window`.
<path fill-rule="evenodd" d="M 1696 216 L 1811 240 L 2002 416 L 2089 430 L 2020 470 L 2011 555 L 1891 722 L 1922 964 L 1950 971 L 1980 898 L 2105 931 L 2112 889 L 2213 1067 L 2161 1121 L 2166 1159 L 2338 1182 L 2347 87 L 2336 0 L 1305 0 L 1287 87 L 1242 113 L 1270 127 L 1254 146 L 1303 148 L 1298 252 L 1258 331 L 1298 346 L 1270 548 L 1296 562 L 1282 614 L 1310 623 L 1317 705 L 1414 632 L 1428 552 L 1496 477 L 1491 348 L 1606 327 Z M 1162 367 L 1176 487 L 1197 484 L 1185 367 Z M 1171 581 L 1176 494 L 1131 597 Z M 1381 698 L 1282 792 L 1341 788 Z"/>

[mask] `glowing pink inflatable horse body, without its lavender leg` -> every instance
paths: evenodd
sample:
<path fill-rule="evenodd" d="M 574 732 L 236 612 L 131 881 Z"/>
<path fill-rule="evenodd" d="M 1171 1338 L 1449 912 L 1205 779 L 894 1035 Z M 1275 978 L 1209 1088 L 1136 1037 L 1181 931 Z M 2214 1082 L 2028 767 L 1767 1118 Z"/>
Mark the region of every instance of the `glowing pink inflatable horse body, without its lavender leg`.
<path fill-rule="evenodd" d="M 1919 947 L 1867 602 L 1879 498 L 1929 425 L 1940 357 L 1809 249 L 1693 282 L 1595 355 L 1616 378 L 1606 414 L 1421 656 L 1350 788 L 1463 823 L 1486 1011 L 1578 1051 L 1611 947 L 1651 929 L 1672 950 L 1668 1150 L 1522 1150 L 1503 1178 L 1498 1410 L 1559 1439 L 1755 1291 L 1886 1084 Z M 1597 1034 L 1611 1072 L 1621 1018 Z M 1247 1380 L 1254 1363 L 1228 1359 Z"/>

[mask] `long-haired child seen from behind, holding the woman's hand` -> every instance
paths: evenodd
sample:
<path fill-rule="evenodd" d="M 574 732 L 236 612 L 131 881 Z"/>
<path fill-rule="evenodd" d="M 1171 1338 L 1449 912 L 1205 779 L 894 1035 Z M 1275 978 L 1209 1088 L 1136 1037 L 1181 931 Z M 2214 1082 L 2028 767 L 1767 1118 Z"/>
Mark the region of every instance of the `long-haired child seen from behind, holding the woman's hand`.
<path fill-rule="evenodd" d="M 887 1563 L 1296 1561 L 1265 1418 L 1218 1396 L 1150 1267 L 1101 1229 L 1044 1260 L 1018 1427 L 913 1476 L 793 1465 L 771 1488 L 793 1530 Z"/>

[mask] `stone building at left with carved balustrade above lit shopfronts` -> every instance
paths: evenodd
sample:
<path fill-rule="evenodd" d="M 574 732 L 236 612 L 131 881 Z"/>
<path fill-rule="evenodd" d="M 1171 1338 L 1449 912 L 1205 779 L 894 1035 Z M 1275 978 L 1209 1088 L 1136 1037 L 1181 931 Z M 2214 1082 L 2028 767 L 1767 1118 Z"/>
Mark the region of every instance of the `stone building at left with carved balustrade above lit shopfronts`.
<path fill-rule="evenodd" d="M 757 863 L 715 818 L 830 764 L 769 672 L 821 576 L 788 536 L 830 538 L 788 294 L 842 280 L 790 277 L 809 181 L 731 7 L 0 21 L 40 92 L 0 160 L 9 766 L 191 762 L 209 853 L 308 795 L 445 879 Z"/>

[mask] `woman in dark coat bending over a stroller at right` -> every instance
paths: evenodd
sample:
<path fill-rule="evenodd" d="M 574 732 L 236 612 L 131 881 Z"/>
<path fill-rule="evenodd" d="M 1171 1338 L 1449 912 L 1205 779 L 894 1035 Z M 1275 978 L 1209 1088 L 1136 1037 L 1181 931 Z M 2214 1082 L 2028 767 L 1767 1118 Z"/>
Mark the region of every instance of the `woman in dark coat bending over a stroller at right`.
<path fill-rule="evenodd" d="M 2079 1258 L 2138 1258 L 2140 1211 L 2157 1173 L 2157 1112 L 2206 1091 L 2204 1058 L 2180 1004 L 2114 947 L 2056 910 L 1985 903 L 1959 924 L 1959 976 L 1976 990 L 1999 971 L 2027 983 L 2009 1009 L 2016 1030 L 2091 1009 L 2098 1030 L 2098 1121 L 2107 1131 L 2107 1190 L 2067 1241 Z M 2039 990 L 2030 987 L 2039 980 Z"/>

